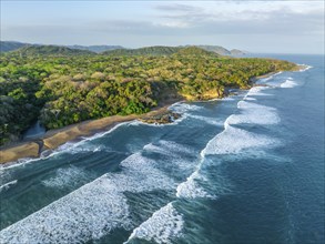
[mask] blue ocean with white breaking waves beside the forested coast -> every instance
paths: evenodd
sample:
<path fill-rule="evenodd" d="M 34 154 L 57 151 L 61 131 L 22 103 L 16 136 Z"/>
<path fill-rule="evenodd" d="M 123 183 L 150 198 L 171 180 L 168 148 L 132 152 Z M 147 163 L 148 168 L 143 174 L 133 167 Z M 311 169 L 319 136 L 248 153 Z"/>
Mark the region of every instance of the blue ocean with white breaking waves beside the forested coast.
<path fill-rule="evenodd" d="M 0 167 L 1 243 L 324 243 L 324 55 Z"/>

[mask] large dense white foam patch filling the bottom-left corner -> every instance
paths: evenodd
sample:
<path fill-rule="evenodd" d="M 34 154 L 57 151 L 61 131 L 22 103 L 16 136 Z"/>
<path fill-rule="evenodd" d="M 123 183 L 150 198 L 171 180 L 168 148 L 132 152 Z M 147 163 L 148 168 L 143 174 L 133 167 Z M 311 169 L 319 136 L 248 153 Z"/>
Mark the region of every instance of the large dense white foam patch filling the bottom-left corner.
<path fill-rule="evenodd" d="M 84 243 L 130 224 L 118 185 L 102 176 L 0 232 L 3 243 Z"/>

